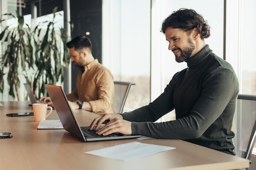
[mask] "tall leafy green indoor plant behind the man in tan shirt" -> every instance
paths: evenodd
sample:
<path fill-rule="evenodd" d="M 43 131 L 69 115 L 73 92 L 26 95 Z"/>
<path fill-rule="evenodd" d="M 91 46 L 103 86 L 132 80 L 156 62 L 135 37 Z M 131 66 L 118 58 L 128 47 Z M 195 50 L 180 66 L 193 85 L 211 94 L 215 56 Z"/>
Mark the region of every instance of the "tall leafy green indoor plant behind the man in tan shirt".
<path fill-rule="evenodd" d="M 4 68 L 9 70 L 9 95 L 13 98 L 17 96 L 18 100 L 21 99 L 20 76 L 25 77 L 25 83 L 31 84 L 37 99 L 40 95 L 46 95 L 44 84 L 55 85 L 59 80 L 63 82 L 63 66 L 68 66 L 70 59 L 65 44 L 68 37 L 63 27 L 55 26 L 56 11 L 57 7 L 53 9 L 51 21 L 40 22 L 33 31 L 24 24 L 23 16 L 17 12 L 18 26 L 11 30 L 6 26 L 2 31 L 0 40 L 7 43 L 7 49 L 2 55 L 0 93 L 4 90 Z M 15 18 L 12 14 L 4 15 Z M 42 29 L 45 24 L 46 29 Z"/>

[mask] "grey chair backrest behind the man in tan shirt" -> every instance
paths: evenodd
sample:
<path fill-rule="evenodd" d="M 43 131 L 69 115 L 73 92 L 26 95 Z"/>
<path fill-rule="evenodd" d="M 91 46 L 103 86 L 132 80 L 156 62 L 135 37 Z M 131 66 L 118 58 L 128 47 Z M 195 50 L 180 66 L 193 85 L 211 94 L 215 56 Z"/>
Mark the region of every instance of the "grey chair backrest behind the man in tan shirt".
<path fill-rule="evenodd" d="M 128 96 L 130 86 L 135 85 L 133 82 L 119 82 L 114 81 L 115 96 L 114 96 L 114 111 L 115 113 L 123 113 L 124 104 Z"/>

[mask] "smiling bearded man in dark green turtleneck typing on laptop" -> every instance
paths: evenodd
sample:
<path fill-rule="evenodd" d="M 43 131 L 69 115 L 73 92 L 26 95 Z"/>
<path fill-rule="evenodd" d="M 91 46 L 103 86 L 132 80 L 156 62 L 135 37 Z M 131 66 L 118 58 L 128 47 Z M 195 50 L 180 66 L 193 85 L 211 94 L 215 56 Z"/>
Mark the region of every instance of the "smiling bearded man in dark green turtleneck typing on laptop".
<path fill-rule="evenodd" d="M 176 73 L 164 92 L 147 106 L 94 119 L 90 129 L 99 135 L 120 132 L 159 139 L 182 139 L 234 155 L 231 130 L 238 79 L 232 66 L 216 56 L 204 38 L 210 26 L 192 9 L 174 11 L 162 23 L 168 49 L 188 68 Z M 175 109 L 176 119 L 154 123 Z"/>

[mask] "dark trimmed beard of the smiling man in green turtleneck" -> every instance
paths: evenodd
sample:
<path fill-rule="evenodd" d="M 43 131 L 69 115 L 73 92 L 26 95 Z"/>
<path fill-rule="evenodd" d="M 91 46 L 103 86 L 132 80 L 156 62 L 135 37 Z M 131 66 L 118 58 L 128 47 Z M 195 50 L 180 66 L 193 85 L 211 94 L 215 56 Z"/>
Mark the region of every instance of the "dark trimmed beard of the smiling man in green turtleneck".
<path fill-rule="evenodd" d="M 195 49 L 195 44 L 193 44 L 191 38 L 188 39 L 188 42 L 188 46 L 184 47 L 183 50 L 180 49 L 180 56 L 175 55 L 176 62 L 186 62 L 186 60 L 188 60 L 188 58 L 191 56 L 192 52 Z"/>

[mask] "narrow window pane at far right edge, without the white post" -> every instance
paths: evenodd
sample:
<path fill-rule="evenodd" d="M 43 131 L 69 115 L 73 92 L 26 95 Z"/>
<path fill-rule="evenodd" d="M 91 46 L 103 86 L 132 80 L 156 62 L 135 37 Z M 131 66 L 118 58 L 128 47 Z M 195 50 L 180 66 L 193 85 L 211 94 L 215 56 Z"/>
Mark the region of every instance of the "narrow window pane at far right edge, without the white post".
<path fill-rule="evenodd" d="M 242 86 L 241 93 L 256 95 L 256 1 L 241 1 L 241 66 Z"/>

